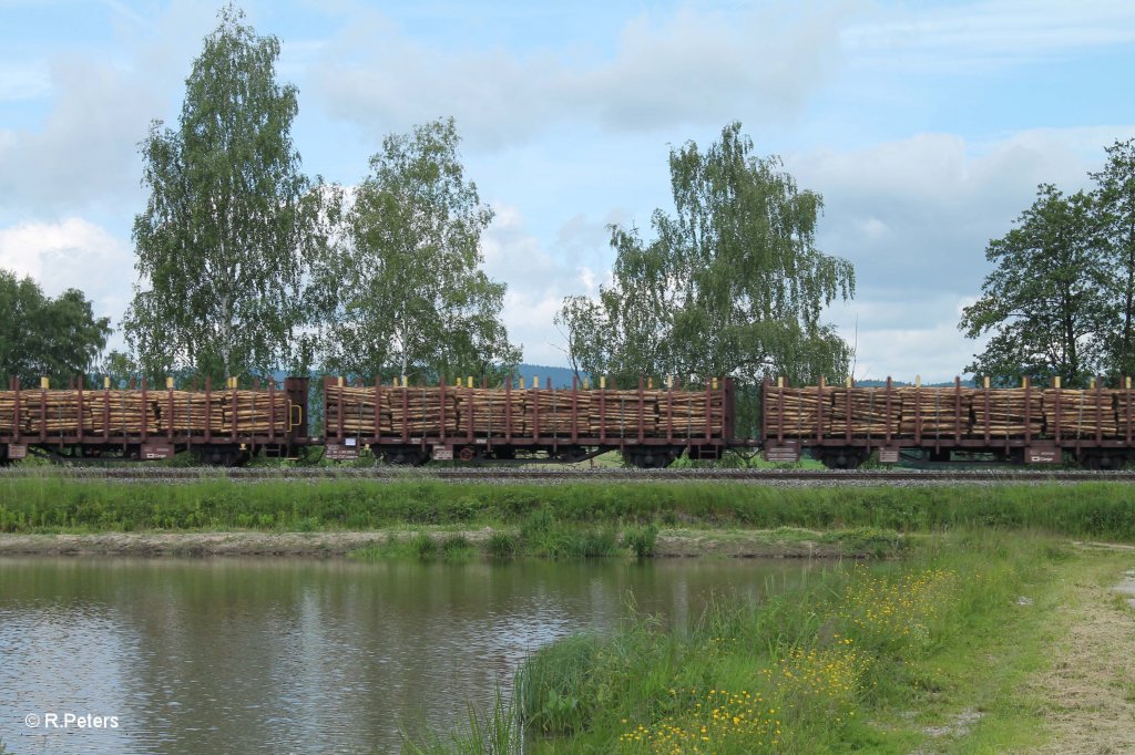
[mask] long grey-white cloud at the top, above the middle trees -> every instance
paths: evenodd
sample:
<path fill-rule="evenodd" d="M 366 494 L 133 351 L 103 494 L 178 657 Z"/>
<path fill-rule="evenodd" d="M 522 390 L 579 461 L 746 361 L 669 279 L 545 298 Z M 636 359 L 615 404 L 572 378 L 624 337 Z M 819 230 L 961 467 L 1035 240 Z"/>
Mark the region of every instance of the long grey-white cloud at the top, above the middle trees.
<path fill-rule="evenodd" d="M 609 132 L 720 124 L 735 117 L 738 102 L 766 122 L 785 121 L 801 112 L 839 51 L 840 7 L 809 10 L 641 15 L 606 58 L 579 49 L 452 51 L 369 15 L 326 45 L 313 78 L 330 114 L 369 135 L 452 114 L 478 146 L 564 122 Z"/>

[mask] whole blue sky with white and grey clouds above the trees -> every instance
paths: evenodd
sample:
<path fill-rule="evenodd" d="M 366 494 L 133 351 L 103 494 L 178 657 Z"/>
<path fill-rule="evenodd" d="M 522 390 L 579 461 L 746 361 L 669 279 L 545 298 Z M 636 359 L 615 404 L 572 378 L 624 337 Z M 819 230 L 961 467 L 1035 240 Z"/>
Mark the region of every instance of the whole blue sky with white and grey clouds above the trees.
<path fill-rule="evenodd" d="M 0 0 L 0 268 L 83 289 L 116 326 L 136 282 L 138 143 L 176 124 L 219 2 Z M 524 360 L 609 279 L 611 223 L 647 237 L 667 156 L 738 120 L 819 193 L 817 246 L 857 291 L 825 313 L 856 378 L 961 373 L 958 330 L 1041 183 L 1087 187 L 1135 137 L 1130 0 L 245 0 L 299 87 L 303 169 L 352 186 L 382 137 L 454 117 L 496 215 L 488 274 Z M 2 313 L 0 313 L 2 316 Z M 116 336 L 111 342 L 120 345 Z"/>

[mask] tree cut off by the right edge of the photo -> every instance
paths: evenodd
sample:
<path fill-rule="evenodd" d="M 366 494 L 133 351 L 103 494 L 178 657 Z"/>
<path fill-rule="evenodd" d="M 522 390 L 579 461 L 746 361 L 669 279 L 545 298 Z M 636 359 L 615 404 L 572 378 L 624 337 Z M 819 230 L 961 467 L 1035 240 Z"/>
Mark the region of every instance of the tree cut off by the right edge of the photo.
<path fill-rule="evenodd" d="M 1090 176 L 1103 264 L 1111 268 L 1107 290 L 1118 329 L 1108 339 L 1108 366 L 1117 375 L 1135 374 L 1135 139 L 1107 147 L 1108 164 Z"/>

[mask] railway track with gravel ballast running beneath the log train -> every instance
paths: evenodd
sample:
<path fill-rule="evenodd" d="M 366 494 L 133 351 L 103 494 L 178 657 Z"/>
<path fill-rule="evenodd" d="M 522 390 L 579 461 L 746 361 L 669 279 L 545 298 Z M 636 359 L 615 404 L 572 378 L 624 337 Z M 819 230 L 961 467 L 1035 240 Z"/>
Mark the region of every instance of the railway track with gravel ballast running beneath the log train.
<path fill-rule="evenodd" d="M 891 484 L 1014 484 L 1014 483 L 1135 483 L 1135 472 L 1083 470 L 832 470 L 832 469 L 547 469 L 459 468 L 400 469 L 390 467 L 334 468 L 146 468 L 70 467 L 0 469 L 2 480 L 107 480 L 133 483 L 190 483 L 203 480 L 269 482 L 279 480 L 340 480 L 388 482 L 742 482 L 753 484 L 891 485 Z"/>

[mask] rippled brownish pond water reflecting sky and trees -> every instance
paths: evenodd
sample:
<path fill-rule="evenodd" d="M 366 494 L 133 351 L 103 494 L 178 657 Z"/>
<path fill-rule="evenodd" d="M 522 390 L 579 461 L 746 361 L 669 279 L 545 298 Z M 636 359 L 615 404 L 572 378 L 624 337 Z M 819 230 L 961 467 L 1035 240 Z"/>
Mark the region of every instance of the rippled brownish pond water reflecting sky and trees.
<path fill-rule="evenodd" d="M 759 600 L 800 562 L 0 560 L 0 739 L 16 753 L 397 750 L 532 650 L 638 610 Z M 118 716 L 45 730 L 28 714 Z"/>

